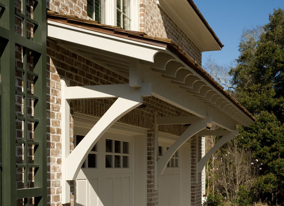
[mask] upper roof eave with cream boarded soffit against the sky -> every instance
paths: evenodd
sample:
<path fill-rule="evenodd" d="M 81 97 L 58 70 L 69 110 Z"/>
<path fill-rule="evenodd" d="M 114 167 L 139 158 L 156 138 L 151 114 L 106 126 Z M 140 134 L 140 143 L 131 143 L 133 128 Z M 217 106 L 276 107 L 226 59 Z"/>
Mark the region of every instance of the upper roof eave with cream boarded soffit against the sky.
<path fill-rule="evenodd" d="M 224 45 L 192 0 L 159 0 L 157 3 L 202 52 L 222 50 Z"/>

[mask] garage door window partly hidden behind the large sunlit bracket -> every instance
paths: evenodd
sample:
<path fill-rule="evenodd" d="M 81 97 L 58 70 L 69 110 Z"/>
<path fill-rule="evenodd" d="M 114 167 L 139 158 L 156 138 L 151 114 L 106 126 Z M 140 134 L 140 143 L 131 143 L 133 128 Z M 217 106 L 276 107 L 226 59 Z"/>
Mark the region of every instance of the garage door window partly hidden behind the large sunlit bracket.
<path fill-rule="evenodd" d="M 75 145 L 77 146 L 85 136 L 76 135 Z M 98 167 L 98 143 L 92 148 L 88 154 L 86 160 L 84 161 L 81 168 L 97 168 Z"/>

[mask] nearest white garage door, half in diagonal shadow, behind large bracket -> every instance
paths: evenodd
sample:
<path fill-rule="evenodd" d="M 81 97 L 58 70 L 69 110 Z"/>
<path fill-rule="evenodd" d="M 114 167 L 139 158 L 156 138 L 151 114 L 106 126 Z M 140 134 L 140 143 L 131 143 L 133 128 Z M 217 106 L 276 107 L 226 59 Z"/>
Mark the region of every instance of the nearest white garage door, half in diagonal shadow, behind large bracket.
<path fill-rule="evenodd" d="M 78 144 L 83 136 L 76 135 Z M 133 136 L 106 133 L 75 181 L 75 205 L 133 205 Z"/>

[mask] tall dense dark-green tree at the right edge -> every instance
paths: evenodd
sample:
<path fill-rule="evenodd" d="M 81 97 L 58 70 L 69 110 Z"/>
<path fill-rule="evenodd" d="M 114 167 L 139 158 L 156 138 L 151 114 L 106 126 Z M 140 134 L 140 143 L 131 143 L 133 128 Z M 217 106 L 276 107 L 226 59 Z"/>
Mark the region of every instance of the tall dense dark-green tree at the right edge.
<path fill-rule="evenodd" d="M 256 117 L 239 128 L 239 136 L 241 146 L 263 163 L 260 192 L 266 197 L 267 192 L 284 193 L 284 11 L 274 10 L 262 31 L 246 32 L 229 74 L 238 101 Z"/>

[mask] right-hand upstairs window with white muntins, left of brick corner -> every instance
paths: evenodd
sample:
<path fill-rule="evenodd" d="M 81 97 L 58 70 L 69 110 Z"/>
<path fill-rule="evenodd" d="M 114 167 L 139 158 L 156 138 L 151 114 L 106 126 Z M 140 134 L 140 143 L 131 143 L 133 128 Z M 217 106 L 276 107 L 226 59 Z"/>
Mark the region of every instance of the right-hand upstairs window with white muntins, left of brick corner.
<path fill-rule="evenodd" d="M 130 0 L 116 0 L 116 26 L 130 30 Z"/>

